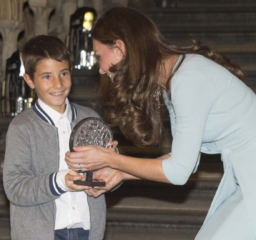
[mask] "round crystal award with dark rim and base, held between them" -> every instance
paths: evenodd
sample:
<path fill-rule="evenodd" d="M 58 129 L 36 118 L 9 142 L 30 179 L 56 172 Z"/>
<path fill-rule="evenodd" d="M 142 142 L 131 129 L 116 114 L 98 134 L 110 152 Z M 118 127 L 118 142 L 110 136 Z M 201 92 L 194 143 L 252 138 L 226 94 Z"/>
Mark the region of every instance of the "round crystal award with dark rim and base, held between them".
<path fill-rule="evenodd" d="M 73 128 L 69 138 L 69 148 L 71 152 L 74 151 L 73 146 L 97 145 L 108 148 L 110 146 L 107 143 L 111 141 L 113 141 L 113 134 L 107 123 L 98 117 L 86 117 Z M 78 166 L 80 168 L 80 164 Z M 82 169 L 78 170 L 82 172 Z M 106 185 L 105 182 L 92 180 L 93 171 L 86 171 L 83 174 L 86 180 L 74 181 L 75 184 L 91 187 Z"/>

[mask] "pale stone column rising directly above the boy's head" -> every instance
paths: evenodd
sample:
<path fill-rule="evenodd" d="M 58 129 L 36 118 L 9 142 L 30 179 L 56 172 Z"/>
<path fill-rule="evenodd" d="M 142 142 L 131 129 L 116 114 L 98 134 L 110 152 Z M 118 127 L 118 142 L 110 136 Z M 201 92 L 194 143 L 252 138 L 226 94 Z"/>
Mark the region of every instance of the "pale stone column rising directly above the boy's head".
<path fill-rule="evenodd" d="M 29 7 L 34 13 L 34 35 L 48 34 L 48 21 L 55 2 L 47 0 L 29 0 Z"/>

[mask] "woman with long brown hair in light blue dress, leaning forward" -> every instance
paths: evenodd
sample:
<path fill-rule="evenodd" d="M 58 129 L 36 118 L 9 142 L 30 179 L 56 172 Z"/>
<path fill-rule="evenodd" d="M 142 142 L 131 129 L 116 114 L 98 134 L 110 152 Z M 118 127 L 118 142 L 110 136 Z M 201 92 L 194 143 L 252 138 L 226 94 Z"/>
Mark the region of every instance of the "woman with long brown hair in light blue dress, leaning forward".
<path fill-rule="evenodd" d="M 107 182 L 89 193 L 99 196 L 128 179 L 183 185 L 196 171 L 200 152 L 221 153 L 225 173 L 196 240 L 256 239 L 256 95 L 241 81 L 240 68 L 199 43 L 168 44 L 149 18 L 129 8 L 110 9 L 92 36 L 106 120 L 137 146 L 157 145 L 162 97 L 173 141 L 172 153 L 159 159 L 99 146 L 74 148 L 66 154 L 69 167 L 100 169 L 94 177 Z"/>

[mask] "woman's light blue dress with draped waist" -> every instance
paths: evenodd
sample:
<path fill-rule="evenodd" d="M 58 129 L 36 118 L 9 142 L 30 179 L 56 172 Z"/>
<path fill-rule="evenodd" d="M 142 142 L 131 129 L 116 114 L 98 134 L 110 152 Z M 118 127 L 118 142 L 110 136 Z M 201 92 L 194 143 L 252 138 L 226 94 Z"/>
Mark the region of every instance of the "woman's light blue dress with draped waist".
<path fill-rule="evenodd" d="M 195 54 L 185 56 L 170 89 L 171 99 L 163 92 L 173 138 L 171 157 L 162 162 L 168 180 L 185 184 L 200 152 L 220 153 L 225 171 L 196 240 L 256 239 L 256 94 L 227 69 Z"/>

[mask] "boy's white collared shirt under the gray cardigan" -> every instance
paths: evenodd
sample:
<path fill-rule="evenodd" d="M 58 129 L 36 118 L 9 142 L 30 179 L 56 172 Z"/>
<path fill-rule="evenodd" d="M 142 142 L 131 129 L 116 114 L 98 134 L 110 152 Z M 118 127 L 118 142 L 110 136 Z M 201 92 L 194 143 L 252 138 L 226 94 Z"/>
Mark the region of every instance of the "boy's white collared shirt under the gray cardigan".
<path fill-rule="evenodd" d="M 42 100 L 38 99 L 38 104 L 44 112 L 49 115 L 58 129 L 58 141 L 60 147 L 59 171 L 56 175 L 57 185 L 65 193 L 55 200 L 57 206 L 55 230 L 63 228 L 82 227 L 84 230 L 90 229 L 90 211 L 87 202 L 87 195 L 84 191 L 71 191 L 65 185 L 65 175 L 70 171 L 65 162 L 65 153 L 69 150 L 69 138 L 71 135 L 72 112 L 68 99 L 65 100 L 66 110 L 63 114 L 53 110 Z"/>

